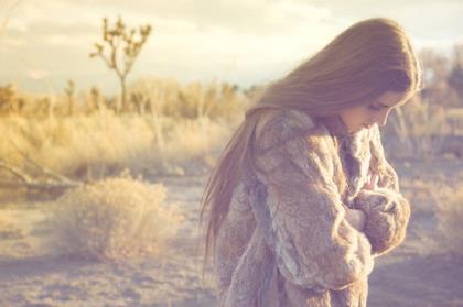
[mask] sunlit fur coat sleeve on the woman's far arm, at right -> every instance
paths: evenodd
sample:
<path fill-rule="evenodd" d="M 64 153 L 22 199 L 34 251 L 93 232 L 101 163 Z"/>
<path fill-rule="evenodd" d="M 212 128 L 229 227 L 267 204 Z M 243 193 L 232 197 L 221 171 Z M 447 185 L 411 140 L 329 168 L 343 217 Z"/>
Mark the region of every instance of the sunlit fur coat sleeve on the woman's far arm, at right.
<path fill-rule="evenodd" d="M 364 232 L 376 257 L 388 253 L 405 240 L 411 210 L 400 193 L 397 173 L 385 158 L 377 127 L 373 133 L 370 151 L 374 157 L 373 171 L 379 178 L 378 188 L 362 189 L 353 201 L 354 208 L 366 213 Z"/>

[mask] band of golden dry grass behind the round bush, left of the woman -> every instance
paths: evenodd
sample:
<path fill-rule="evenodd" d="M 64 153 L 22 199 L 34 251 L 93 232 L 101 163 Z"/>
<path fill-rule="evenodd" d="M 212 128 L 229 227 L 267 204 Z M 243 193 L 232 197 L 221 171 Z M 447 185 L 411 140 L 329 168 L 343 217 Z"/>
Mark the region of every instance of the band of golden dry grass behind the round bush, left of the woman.
<path fill-rule="evenodd" d="M 144 175 L 164 172 L 166 165 L 184 167 L 222 149 L 233 124 L 207 117 L 192 120 L 105 111 L 46 120 L 13 116 L 0 122 L 0 131 L 6 140 L 0 156 L 13 165 L 23 165 L 19 149 L 56 173 L 98 179 L 125 168 Z"/>

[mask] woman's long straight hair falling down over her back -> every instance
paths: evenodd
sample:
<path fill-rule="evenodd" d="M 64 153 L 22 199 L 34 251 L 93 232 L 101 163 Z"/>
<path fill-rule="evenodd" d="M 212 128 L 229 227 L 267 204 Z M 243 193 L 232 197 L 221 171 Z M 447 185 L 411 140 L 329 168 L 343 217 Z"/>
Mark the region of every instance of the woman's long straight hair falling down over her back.
<path fill-rule="evenodd" d="M 207 212 L 204 265 L 211 248 L 215 250 L 235 185 L 243 169 L 254 165 L 250 143 L 262 116 L 281 109 L 332 116 L 368 103 L 389 90 L 420 89 L 421 68 L 410 41 L 397 22 L 386 18 L 353 24 L 286 77 L 269 85 L 246 112 L 208 178 L 200 215 L 203 224 Z"/>

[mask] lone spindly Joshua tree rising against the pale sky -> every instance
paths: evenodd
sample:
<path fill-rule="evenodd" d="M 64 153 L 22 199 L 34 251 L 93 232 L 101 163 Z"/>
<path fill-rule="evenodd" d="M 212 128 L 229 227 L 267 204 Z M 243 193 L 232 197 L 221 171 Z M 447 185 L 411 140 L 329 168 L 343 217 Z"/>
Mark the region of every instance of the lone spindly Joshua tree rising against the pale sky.
<path fill-rule="evenodd" d="M 138 29 L 127 29 L 119 17 L 114 28 L 108 28 L 108 19 L 103 19 L 103 43 L 95 43 L 96 52 L 90 57 L 99 56 L 106 65 L 114 69 L 119 78 L 122 111 L 129 110 L 129 100 L 126 92 L 126 78 L 140 53 L 141 47 L 151 33 L 151 25 L 146 24 Z"/>

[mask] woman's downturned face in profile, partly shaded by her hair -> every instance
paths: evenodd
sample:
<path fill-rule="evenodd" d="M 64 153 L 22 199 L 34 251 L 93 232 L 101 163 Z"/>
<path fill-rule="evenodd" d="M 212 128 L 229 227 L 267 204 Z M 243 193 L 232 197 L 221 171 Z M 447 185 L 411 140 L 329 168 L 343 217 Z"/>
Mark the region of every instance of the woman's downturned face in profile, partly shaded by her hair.
<path fill-rule="evenodd" d="M 407 92 L 386 91 L 369 103 L 342 111 L 340 117 L 349 133 L 369 128 L 375 123 L 385 125 L 389 112 L 407 102 L 412 96 Z"/>

